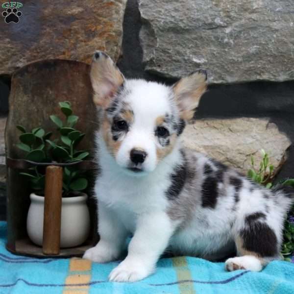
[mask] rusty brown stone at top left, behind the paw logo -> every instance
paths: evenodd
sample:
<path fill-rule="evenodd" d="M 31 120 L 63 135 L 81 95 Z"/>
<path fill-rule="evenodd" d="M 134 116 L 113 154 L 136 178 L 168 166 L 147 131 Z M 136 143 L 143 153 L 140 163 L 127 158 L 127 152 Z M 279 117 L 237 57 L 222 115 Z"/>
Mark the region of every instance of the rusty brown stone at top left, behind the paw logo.
<path fill-rule="evenodd" d="M 41 59 L 89 63 L 95 49 L 117 60 L 126 0 L 27 0 L 18 24 L 0 30 L 0 74 Z"/>

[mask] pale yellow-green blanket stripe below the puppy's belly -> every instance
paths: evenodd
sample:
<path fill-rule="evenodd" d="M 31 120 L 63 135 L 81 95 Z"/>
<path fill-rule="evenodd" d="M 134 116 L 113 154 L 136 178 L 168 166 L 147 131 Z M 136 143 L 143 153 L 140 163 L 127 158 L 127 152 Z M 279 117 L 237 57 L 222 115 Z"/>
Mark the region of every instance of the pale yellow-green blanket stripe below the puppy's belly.
<path fill-rule="evenodd" d="M 188 262 L 185 256 L 173 257 L 172 265 L 176 271 L 177 281 L 192 280 L 191 271 L 188 267 Z M 196 294 L 193 282 L 178 283 L 180 294 Z"/>

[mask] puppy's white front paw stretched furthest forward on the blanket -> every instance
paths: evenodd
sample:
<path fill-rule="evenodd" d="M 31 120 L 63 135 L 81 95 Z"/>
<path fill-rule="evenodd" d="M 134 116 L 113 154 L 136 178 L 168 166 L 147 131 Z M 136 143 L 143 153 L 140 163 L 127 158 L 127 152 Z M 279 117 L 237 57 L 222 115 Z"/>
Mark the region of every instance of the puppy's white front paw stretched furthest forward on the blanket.
<path fill-rule="evenodd" d="M 146 278 L 153 272 L 141 262 L 124 260 L 109 274 L 112 282 L 136 282 Z"/>

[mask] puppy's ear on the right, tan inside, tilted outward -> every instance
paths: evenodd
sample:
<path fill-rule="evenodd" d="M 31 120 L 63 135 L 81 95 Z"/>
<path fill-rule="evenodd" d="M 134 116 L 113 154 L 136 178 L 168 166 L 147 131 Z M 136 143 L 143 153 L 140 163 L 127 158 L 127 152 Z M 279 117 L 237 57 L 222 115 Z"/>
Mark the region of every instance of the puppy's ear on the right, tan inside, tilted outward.
<path fill-rule="evenodd" d="M 193 118 L 194 110 L 206 88 L 207 73 L 205 70 L 198 70 L 183 77 L 172 86 L 181 119 L 189 121 Z"/>

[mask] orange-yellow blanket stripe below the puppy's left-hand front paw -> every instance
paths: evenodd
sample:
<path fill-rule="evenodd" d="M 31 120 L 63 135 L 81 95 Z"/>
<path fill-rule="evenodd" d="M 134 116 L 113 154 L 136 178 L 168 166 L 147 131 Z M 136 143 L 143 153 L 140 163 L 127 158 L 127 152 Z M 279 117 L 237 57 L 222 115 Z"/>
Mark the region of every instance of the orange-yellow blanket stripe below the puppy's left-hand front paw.
<path fill-rule="evenodd" d="M 87 259 L 72 258 L 63 294 L 88 294 L 92 263 Z M 85 285 L 86 284 L 86 285 Z"/>

